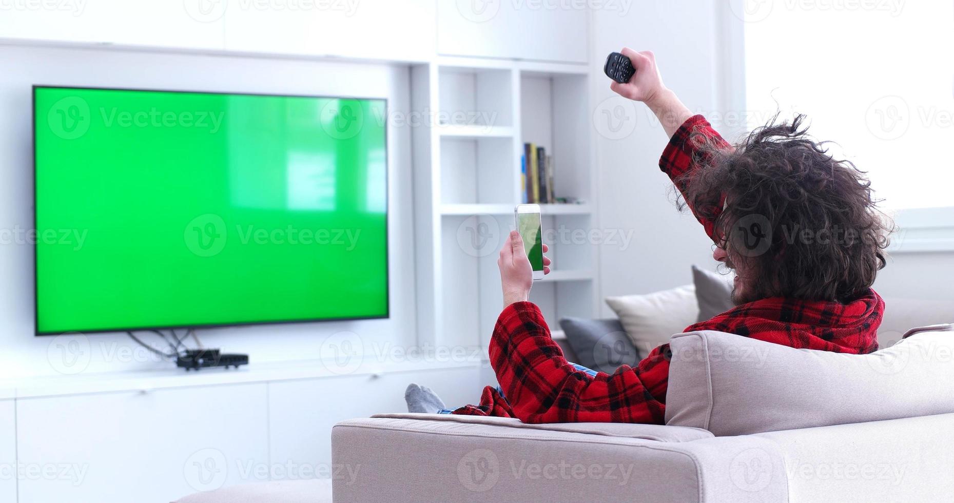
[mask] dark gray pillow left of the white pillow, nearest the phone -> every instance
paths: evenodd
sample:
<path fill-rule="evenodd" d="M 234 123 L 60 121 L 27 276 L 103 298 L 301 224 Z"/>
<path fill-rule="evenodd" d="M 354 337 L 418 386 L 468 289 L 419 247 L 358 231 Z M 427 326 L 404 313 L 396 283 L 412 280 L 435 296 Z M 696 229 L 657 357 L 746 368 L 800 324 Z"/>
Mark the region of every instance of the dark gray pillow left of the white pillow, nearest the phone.
<path fill-rule="evenodd" d="M 561 318 L 560 328 L 576 353 L 577 362 L 600 372 L 612 373 L 616 367 L 635 367 L 642 360 L 630 336 L 619 320 L 591 320 L 588 318 Z"/>

